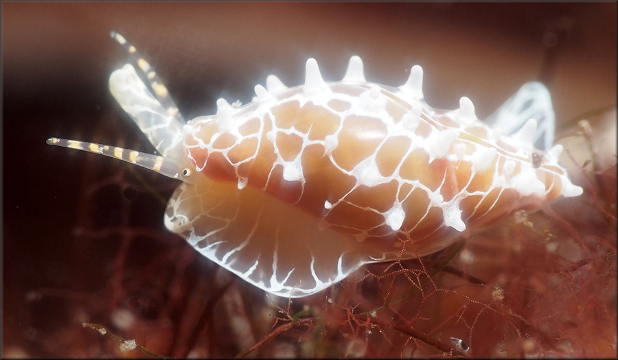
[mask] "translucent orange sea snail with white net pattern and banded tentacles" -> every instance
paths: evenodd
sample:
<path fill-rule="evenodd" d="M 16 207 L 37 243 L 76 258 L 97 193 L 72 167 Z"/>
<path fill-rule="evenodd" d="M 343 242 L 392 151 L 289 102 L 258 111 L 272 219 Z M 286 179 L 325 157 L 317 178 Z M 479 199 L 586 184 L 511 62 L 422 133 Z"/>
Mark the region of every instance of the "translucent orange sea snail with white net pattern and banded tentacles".
<path fill-rule="evenodd" d="M 47 143 L 181 180 L 165 226 L 268 293 L 308 296 L 365 263 L 432 254 L 466 229 L 582 193 L 551 147 L 542 84 L 525 84 L 490 127 L 467 97 L 457 110 L 428 106 L 419 66 L 396 88 L 367 82 L 358 56 L 339 82 L 309 59 L 305 84 L 270 75 L 251 103 L 218 99 L 216 115 L 185 122 L 148 62 L 111 36 L 133 64 L 111 74 L 110 91 L 161 156 Z M 413 241 L 404 252 L 403 239 Z"/>

